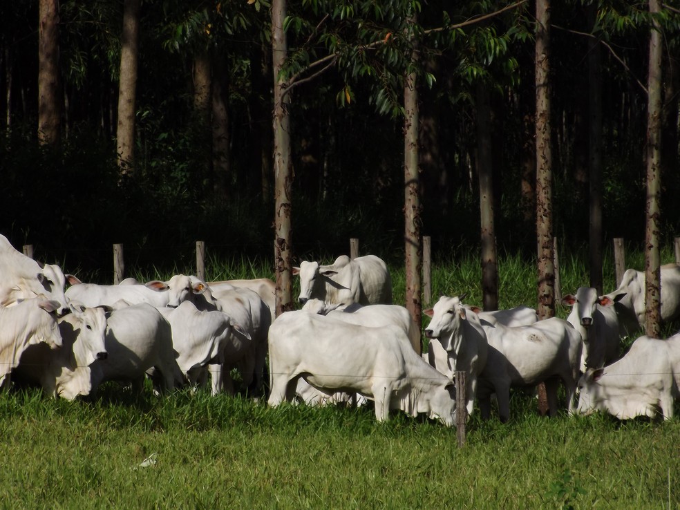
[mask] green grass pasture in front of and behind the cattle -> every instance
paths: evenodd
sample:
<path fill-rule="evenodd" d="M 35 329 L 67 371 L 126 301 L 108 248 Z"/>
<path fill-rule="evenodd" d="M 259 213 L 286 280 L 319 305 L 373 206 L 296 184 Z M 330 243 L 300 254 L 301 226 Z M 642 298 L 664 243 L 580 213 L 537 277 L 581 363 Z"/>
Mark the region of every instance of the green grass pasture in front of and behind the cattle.
<path fill-rule="evenodd" d="M 236 266 L 229 276 L 252 276 Z M 563 292 L 587 282 L 576 258 L 562 269 Z M 433 271 L 434 295 L 480 303 L 476 257 Z M 393 279 L 399 303 L 404 275 Z M 605 292 L 613 279 L 605 267 Z M 501 308 L 533 305 L 535 281 L 533 265 L 502 257 Z M 467 431 L 458 448 L 455 428 L 424 418 L 379 424 L 370 408 L 271 409 L 204 390 L 135 396 L 106 384 L 87 402 L 10 392 L 0 395 L 0 507 L 680 508 L 678 414 L 548 419 L 513 393 L 509 423 L 473 415 Z"/>

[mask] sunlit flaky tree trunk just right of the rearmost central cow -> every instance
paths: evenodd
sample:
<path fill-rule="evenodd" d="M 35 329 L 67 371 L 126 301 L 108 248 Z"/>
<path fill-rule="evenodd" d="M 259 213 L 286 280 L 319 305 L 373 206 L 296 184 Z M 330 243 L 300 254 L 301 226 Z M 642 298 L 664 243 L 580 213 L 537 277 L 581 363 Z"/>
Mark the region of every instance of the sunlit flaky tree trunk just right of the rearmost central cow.
<path fill-rule="evenodd" d="M 413 54 L 415 59 L 415 53 Z M 406 242 L 406 308 L 416 325 L 422 320 L 422 247 L 420 245 L 420 186 L 418 173 L 418 90 L 416 75 L 404 83 L 404 240 Z M 422 353 L 421 342 L 413 346 Z"/>

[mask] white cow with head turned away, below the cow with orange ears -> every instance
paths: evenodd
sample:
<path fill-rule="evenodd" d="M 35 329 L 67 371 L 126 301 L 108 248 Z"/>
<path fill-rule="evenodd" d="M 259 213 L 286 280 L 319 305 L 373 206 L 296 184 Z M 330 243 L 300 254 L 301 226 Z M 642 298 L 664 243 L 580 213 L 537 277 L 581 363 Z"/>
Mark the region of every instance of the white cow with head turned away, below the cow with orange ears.
<path fill-rule="evenodd" d="M 255 346 L 250 335 L 227 314 L 219 310 L 198 310 L 190 301 L 177 308 L 159 310 L 171 325 L 177 364 L 189 384 L 196 386 L 207 369 L 213 375 L 213 395 L 223 386 L 228 393 L 234 393 L 229 371 L 244 358 L 255 359 L 251 354 Z M 246 372 L 252 374 L 253 370 L 250 363 Z"/>

